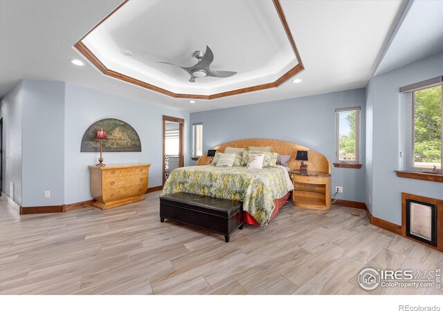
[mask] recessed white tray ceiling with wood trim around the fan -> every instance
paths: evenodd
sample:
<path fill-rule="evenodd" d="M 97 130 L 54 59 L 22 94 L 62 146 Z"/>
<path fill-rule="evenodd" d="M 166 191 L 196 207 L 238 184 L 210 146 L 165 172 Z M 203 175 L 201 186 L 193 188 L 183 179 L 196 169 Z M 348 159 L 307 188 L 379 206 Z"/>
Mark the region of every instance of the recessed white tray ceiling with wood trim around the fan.
<path fill-rule="evenodd" d="M 206 46 L 214 54 L 211 69 L 237 74 L 192 83 L 182 68 L 160 63 L 193 66 L 192 53 Z M 75 48 L 105 75 L 180 98 L 209 100 L 273 88 L 303 68 L 278 0 L 128 0 Z"/>

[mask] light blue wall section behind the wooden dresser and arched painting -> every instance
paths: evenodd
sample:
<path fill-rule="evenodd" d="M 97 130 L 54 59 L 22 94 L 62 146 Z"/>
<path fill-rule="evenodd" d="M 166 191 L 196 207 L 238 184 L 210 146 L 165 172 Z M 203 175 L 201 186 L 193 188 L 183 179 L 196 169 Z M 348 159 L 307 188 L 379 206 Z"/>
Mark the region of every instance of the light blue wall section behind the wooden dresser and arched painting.
<path fill-rule="evenodd" d="M 185 119 L 184 145 L 188 146 L 189 113 L 111 95 L 66 83 L 65 93 L 64 192 L 66 204 L 91 200 L 88 165 L 98 162 L 98 153 L 80 152 L 84 131 L 107 117 L 123 120 L 137 131 L 142 152 L 104 153 L 105 164 L 151 163 L 149 187 L 162 185 L 163 115 Z M 185 164 L 188 164 L 185 149 Z"/>

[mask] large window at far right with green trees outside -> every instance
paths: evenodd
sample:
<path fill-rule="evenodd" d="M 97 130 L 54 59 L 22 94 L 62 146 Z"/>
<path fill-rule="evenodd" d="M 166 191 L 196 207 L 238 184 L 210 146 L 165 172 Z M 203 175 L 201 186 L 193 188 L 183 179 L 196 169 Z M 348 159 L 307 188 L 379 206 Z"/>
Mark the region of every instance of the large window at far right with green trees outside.
<path fill-rule="evenodd" d="M 400 88 L 407 171 L 442 173 L 442 77 Z"/>

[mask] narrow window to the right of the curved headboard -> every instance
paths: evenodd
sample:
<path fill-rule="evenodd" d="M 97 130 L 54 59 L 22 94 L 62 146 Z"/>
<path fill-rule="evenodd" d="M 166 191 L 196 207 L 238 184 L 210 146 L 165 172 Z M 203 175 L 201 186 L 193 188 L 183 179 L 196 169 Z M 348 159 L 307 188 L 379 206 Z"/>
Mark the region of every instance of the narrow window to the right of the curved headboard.
<path fill-rule="evenodd" d="M 360 162 L 360 107 L 335 110 L 336 162 Z"/>

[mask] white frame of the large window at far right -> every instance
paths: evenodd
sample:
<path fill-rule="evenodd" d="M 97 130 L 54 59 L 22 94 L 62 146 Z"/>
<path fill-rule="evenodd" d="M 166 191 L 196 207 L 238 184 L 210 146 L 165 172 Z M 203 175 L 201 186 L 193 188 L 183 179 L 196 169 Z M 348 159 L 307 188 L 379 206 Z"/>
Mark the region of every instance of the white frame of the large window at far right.
<path fill-rule="evenodd" d="M 423 167 L 415 167 L 415 91 L 421 91 L 425 88 L 432 88 L 434 86 L 442 85 L 442 124 L 443 124 L 443 77 L 437 77 L 434 79 L 429 79 L 423 82 L 419 82 L 417 84 L 411 84 L 410 86 L 404 86 L 400 88 L 400 93 L 402 97 L 401 100 L 403 102 L 402 107 L 404 110 L 404 129 L 402 130 L 404 133 L 404 153 L 405 153 L 405 169 L 406 171 L 413 172 L 424 172 L 428 169 L 424 169 Z M 437 169 L 437 173 L 442 174 L 443 172 L 443 126 L 442 126 L 442 150 L 441 152 L 441 167 L 442 169 Z M 401 154 L 400 154 L 401 156 Z"/>

